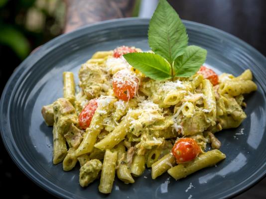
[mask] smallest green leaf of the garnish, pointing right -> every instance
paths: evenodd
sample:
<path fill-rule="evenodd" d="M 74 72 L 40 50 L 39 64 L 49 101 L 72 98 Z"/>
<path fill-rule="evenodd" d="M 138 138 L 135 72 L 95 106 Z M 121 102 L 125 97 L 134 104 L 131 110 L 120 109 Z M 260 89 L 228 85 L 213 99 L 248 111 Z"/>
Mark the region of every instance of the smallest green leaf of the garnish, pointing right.
<path fill-rule="evenodd" d="M 175 76 L 190 77 L 194 75 L 205 62 L 207 50 L 199 46 L 188 46 L 182 56 L 174 61 Z"/>

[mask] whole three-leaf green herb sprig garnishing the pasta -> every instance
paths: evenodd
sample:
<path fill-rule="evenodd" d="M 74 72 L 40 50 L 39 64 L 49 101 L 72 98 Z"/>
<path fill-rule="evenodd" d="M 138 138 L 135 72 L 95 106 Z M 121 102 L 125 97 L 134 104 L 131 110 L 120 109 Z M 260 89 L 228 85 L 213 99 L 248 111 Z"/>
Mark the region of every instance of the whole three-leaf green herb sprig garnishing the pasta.
<path fill-rule="evenodd" d="M 154 80 L 174 79 L 194 75 L 204 63 L 207 51 L 187 46 L 186 28 L 166 0 L 160 0 L 148 30 L 148 43 L 155 53 L 123 55 L 137 70 Z"/>

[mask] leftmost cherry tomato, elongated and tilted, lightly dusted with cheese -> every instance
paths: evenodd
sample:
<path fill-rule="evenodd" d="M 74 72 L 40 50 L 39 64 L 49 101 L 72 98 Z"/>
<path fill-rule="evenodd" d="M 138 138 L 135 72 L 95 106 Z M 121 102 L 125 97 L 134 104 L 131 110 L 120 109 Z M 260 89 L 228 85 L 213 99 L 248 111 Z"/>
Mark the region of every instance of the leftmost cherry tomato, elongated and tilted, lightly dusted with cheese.
<path fill-rule="evenodd" d="M 92 117 L 97 107 L 98 107 L 97 101 L 90 100 L 89 103 L 83 108 L 83 110 L 79 114 L 79 125 L 82 129 L 86 129 L 90 126 Z"/>

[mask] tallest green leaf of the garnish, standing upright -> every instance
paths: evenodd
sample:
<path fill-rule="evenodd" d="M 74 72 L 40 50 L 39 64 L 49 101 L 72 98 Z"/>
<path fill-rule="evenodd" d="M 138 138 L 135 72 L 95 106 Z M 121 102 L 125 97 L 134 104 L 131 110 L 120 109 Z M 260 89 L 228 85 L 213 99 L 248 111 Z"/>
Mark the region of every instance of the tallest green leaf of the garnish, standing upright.
<path fill-rule="evenodd" d="M 178 14 L 166 0 L 160 0 L 149 22 L 149 47 L 172 65 L 183 54 L 187 41 L 186 28 Z"/>

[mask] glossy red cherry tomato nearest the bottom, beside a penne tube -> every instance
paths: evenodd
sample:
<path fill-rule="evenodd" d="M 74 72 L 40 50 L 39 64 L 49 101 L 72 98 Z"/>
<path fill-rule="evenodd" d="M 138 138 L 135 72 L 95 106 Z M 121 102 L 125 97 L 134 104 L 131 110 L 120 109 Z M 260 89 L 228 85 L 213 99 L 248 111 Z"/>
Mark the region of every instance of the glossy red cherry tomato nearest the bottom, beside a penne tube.
<path fill-rule="evenodd" d="M 200 151 L 199 145 L 192 138 L 180 138 L 172 148 L 177 163 L 185 163 L 195 159 Z"/>

